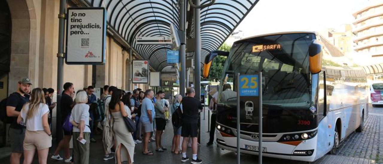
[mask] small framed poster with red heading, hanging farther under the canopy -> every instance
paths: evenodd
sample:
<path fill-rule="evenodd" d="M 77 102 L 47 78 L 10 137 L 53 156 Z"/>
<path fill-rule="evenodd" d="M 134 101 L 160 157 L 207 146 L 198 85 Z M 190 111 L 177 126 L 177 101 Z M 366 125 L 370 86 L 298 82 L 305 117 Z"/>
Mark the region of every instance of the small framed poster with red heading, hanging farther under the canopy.
<path fill-rule="evenodd" d="M 148 60 L 133 60 L 132 69 L 133 83 L 148 83 L 149 79 L 149 61 Z"/>

